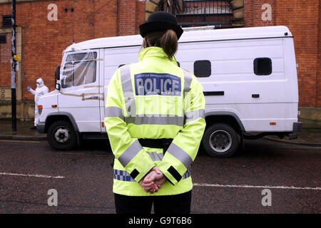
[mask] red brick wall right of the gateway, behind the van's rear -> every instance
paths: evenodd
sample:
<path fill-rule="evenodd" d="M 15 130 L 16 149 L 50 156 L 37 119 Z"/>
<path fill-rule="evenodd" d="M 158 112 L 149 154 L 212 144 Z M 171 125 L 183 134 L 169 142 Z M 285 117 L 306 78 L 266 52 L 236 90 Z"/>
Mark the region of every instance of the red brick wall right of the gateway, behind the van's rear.
<path fill-rule="evenodd" d="M 320 1 L 244 0 L 245 26 L 287 26 L 295 42 L 299 68 L 299 105 L 321 107 Z M 263 4 L 272 6 L 272 21 L 263 21 Z"/>

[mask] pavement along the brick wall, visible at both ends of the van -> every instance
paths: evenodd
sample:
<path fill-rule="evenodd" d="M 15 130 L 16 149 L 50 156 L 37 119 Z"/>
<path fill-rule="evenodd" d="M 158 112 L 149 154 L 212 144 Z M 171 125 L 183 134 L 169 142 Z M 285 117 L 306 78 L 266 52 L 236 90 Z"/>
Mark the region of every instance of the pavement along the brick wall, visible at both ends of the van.
<path fill-rule="evenodd" d="M 46 134 L 38 133 L 36 130 L 30 130 L 34 121 L 17 120 L 16 132 L 11 131 L 11 120 L 0 120 L 0 140 L 46 140 Z M 280 139 L 278 136 L 269 135 L 264 137 L 266 140 L 285 142 L 297 145 L 307 145 L 321 147 L 321 128 L 302 128 L 297 133 L 297 139 L 290 140 L 287 136 Z"/>

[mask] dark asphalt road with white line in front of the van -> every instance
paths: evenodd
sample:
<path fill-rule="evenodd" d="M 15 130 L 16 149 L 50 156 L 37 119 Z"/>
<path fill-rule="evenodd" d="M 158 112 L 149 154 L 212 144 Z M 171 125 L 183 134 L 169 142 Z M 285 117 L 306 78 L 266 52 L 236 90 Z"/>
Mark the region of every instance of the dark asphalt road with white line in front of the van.
<path fill-rule="evenodd" d="M 60 152 L 46 141 L 0 140 L 0 155 L 0 213 L 115 213 L 113 155 L 105 143 Z M 200 150 L 191 212 L 320 214 L 320 167 L 320 147 L 264 139 L 246 141 L 225 159 Z M 58 206 L 48 204 L 51 189 Z"/>

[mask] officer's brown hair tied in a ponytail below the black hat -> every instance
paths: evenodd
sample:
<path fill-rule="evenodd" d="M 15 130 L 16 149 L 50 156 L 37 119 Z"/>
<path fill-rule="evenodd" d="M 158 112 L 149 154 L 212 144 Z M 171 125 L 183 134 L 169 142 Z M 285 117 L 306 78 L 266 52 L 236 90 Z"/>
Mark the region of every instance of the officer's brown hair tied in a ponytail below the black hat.
<path fill-rule="evenodd" d="M 168 29 L 166 31 L 148 33 L 146 35 L 146 41 L 144 40 L 143 47 L 147 48 L 151 46 L 163 48 L 168 58 L 172 60 L 178 48 L 178 39 L 175 31 Z"/>

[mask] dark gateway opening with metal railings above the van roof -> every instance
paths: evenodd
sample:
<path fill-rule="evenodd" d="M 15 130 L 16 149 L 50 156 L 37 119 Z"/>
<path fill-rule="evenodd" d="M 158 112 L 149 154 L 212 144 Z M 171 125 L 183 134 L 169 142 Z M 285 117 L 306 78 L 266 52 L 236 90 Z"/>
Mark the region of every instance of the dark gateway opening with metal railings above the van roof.
<path fill-rule="evenodd" d="M 174 14 L 182 27 L 230 28 L 233 19 L 233 10 L 226 0 L 162 0 L 158 9 Z"/>

